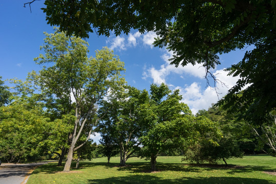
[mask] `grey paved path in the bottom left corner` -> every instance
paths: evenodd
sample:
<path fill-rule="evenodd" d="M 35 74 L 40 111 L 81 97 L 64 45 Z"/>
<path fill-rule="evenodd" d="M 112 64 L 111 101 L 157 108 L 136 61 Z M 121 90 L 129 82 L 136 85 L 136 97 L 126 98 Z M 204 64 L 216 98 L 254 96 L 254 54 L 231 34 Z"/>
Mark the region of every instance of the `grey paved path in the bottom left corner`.
<path fill-rule="evenodd" d="M 1 184 L 23 184 L 26 183 L 29 174 L 36 166 L 47 164 L 49 162 L 38 162 L 31 164 L 2 164 L 0 166 Z"/>

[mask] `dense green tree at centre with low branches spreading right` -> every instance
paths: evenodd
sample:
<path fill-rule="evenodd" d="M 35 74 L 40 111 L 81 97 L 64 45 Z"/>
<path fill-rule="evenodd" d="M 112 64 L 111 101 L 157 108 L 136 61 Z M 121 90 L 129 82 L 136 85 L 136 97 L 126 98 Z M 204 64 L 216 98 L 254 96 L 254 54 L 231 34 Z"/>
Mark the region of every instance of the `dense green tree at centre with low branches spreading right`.
<path fill-rule="evenodd" d="M 150 122 L 148 130 L 140 137 L 143 148 L 139 155 L 151 160 L 152 171 L 156 170 L 156 158 L 160 153 L 174 151 L 179 154 L 183 147 L 195 144 L 202 137 L 217 144 L 214 138 L 219 131 L 215 124 L 206 118 L 195 118 L 181 100 L 179 90 L 171 93 L 165 84 L 151 85 L 150 108 L 156 119 Z"/>

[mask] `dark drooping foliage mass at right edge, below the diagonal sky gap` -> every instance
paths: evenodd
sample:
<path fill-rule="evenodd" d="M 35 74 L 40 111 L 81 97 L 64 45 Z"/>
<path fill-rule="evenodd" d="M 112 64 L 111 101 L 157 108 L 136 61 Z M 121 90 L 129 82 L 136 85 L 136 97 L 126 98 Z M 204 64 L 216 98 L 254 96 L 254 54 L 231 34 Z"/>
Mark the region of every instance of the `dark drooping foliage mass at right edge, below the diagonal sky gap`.
<path fill-rule="evenodd" d="M 246 52 L 241 62 L 227 68 L 230 74 L 241 79 L 218 103 L 231 112 L 239 111 L 239 118 L 252 124 L 268 122 L 269 113 L 276 107 L 275 34 L 272 31 L 271 35 L 255 43 L 256 48 Z M 245 86 L 246 89 L 239 93 Z"/>

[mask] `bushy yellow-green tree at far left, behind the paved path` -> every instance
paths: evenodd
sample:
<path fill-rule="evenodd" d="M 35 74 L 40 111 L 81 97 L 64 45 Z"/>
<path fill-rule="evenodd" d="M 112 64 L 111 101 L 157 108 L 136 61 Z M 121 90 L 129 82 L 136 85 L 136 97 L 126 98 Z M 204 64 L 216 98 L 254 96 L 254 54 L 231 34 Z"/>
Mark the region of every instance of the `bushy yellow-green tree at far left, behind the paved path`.
<path fill-rule="evenodd" d="M 0 107 L 0 158 L 8 163 L 41 159 L 47 155 L 43 143 L 50 120 L 30 81 L 13 82 L 10 103 Z"/>

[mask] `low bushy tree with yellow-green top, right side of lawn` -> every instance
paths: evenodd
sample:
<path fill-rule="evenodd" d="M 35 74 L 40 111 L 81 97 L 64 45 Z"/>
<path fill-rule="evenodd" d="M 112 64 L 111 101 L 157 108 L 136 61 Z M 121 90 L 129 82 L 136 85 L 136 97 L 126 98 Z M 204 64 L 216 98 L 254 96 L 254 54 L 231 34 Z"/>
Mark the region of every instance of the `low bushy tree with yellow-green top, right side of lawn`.
<path fill-rule="evenodd" d="M 194 126 L 198 131 L 196 142 L 190 144 L 186 150 L 186 157 L 182 160 L 189 160 L 197 164 L 205 162 L 213 164 L 223 160 L 227 166 L 226 159 L 242 157 L 243 153 L 236 140 L 233 139 L 233 136 L 223 137 L 217 123 L 202 116 L 197 117 L 196 121 Z"/>

